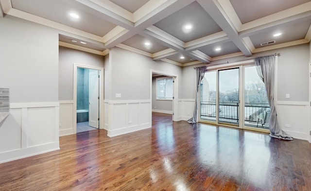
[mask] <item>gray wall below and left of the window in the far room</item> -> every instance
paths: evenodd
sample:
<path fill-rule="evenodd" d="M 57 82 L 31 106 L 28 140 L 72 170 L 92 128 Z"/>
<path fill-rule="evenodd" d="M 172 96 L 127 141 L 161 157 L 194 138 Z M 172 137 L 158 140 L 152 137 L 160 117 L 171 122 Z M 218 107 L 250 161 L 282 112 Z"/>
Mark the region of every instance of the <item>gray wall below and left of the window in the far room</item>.
<path fill-rule="evenodd" d="M 172 100 L 157 100 L 156 99 L 156 77 L 152 78 L 152 111 L 160 113 L 173 113 Z"/>

